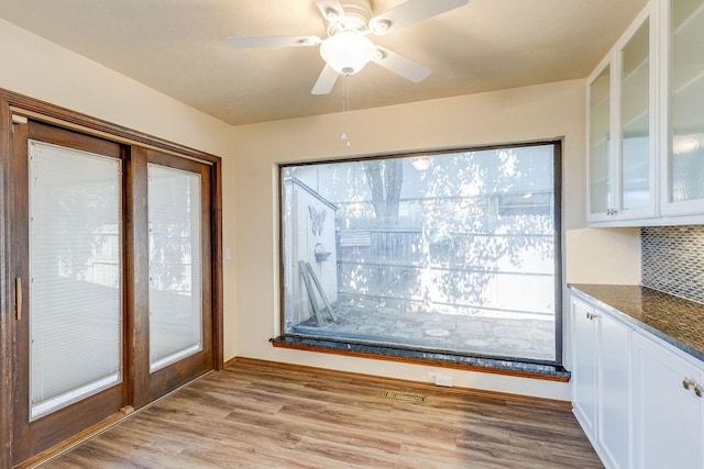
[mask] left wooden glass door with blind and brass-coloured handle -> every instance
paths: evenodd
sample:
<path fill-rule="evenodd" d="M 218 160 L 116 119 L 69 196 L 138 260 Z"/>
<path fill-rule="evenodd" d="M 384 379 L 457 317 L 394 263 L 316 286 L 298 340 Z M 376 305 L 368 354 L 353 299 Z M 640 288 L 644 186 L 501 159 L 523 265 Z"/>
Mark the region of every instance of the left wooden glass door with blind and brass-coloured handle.
<path fill-rule="evenodd" d="M 127 404 L 122 150 L 42 124 L 14 125 L 13 150 L 13 459 L 22 461 Z"/>

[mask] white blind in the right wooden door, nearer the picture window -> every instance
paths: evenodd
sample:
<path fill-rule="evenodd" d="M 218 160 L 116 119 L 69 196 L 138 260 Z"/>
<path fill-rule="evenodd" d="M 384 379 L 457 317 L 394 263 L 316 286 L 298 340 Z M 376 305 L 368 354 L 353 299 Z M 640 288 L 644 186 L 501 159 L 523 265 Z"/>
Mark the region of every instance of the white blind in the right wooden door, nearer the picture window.
<path fill-rule="evenodd" d="M 200 175 L 150 164 L 150 371 L 202 349 Z"/>

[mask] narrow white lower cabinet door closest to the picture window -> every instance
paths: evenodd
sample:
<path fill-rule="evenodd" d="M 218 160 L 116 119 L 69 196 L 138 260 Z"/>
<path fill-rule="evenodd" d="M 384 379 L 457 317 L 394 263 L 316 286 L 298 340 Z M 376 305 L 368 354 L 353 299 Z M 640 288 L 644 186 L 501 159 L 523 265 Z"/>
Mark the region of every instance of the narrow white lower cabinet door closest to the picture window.
<path fill-rule="evenodd" d="M 590 439 L 594 438 L 596 429 L 596 330 L 592 313 L 590 305 L 572 299 L 572 401 L 574 413 Z"/>

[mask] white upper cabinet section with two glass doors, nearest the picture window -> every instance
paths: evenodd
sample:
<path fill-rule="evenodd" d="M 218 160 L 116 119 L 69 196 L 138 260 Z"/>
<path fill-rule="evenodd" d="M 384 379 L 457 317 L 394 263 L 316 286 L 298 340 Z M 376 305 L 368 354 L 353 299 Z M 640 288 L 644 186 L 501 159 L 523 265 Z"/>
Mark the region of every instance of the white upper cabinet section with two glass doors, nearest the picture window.
<path fill-rule="evenodd" d="M 588 80 L 588 220 L 656 216 L 656 60 L 646 8 Z"/>

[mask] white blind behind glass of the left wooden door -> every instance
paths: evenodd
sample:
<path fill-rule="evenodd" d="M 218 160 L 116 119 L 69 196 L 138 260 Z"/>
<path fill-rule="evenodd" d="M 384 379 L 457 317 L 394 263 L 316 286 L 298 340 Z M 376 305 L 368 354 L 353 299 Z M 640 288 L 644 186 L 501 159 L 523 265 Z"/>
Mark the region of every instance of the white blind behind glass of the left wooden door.
<path fill-rule="evenodd" d="M 30 142 L 30 409 L 121 380 L 120 161 Z"/>

